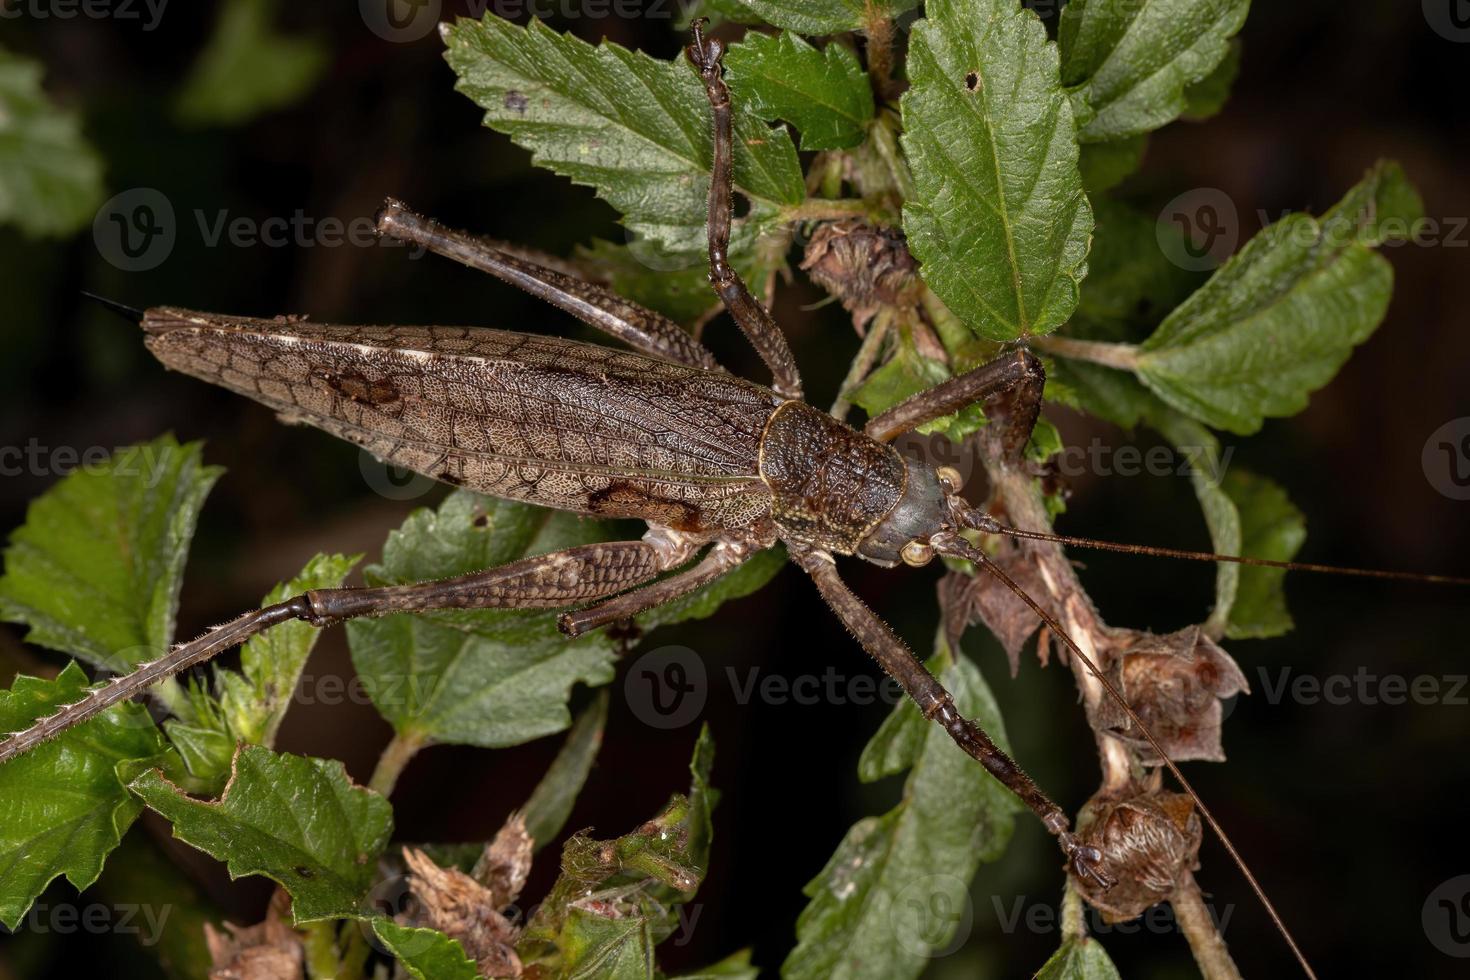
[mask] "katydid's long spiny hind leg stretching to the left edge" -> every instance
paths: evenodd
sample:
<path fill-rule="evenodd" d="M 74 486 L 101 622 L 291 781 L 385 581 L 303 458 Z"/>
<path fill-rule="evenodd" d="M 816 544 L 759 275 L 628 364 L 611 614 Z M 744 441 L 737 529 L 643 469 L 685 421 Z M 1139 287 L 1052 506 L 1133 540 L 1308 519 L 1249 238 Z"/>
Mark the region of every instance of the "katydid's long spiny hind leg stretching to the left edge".
<path fill-rule="evenodd" d="M 331 626 L 362 616 L 448 608 L 563 608 L 642 585 L 688 561 L 691 554 L 688 542 L 656 532 L 642 541 L 579 545 L 438 582 L 304 592 L 179 644 L 159 660 L 113 677 L 81 701 L 40 718 L 24 732 L 12 733 L 0 742 L 0 763 L 278 623 L 303 620 L 313 626 Z"/>

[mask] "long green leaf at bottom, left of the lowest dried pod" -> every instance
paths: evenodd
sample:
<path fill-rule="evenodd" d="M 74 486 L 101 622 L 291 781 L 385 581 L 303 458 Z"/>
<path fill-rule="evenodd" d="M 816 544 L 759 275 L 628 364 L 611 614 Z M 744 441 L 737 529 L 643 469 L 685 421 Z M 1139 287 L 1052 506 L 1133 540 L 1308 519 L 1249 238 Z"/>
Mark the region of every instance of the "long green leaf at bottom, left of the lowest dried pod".
<path fill-rule="evenodd" d="M 942 638 L 929 663 L 967 717 L 1005 745 L 980 671 Z M 903 801 L 858 821 L 806 887 L 786 980 L 916 977 L 948 946 L 970 879 L 1010 840 L 1019 804 L 910 702 L 898 705 L 858 764 L 864 780 L 911 768 Z"/>

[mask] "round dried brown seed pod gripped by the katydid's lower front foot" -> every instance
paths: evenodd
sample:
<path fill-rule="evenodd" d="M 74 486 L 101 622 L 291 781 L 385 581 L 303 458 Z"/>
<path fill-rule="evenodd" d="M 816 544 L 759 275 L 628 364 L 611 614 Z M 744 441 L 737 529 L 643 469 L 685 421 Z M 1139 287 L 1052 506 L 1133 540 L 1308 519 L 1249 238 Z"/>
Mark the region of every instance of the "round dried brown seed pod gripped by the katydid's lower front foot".
<path fill-rule="evenodd" d="M 1073 883 L 1110 923 L 1136 918 L 1166 901 L 1180 876 L 1198 867 L 1200 815 L 1183 793 L 1094 798 L 1079 824 L 1082 843 L 1102 851 L 1117 884 L 1104 892 L 1085 879 L 1073 877 Z"/>

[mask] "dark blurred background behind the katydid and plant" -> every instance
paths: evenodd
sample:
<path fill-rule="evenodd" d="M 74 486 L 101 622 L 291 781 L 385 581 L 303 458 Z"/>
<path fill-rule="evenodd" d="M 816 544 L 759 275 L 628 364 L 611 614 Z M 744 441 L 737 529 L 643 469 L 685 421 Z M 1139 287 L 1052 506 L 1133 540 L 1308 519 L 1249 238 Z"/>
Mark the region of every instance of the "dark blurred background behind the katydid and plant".
<path fill-rule="evenodd" d="M 440 260 L 412 262 L 390 248 L 209 248 L 191 215 L 228 209 L 263 220 L 301 209 L 351 219 L 372 215 L 394 194 L 451 223 L 556 253 L 594 235 L 622 239 L 614 215 L 591 191 L 532 170 L 525 151 L 479 126 L 478 109 L 453 93 L 434 35 L 390 44 L 365 29 L 356 4 L 304 6 L 287 13 L 287 25 L 326 38 L 331 68 L 303 101 L 238 128 L 187 128 L 169 112 L 216 4 L 171 4 L 154 32 L 140 31 L 137 22 L 0 22 L 0 43 L 41 57 L 49 88 L 85 110 L 87 132 L 107 160 L 110 192 L 159 188 L 182 219 L 168 262 L 146 273 L 107 264 L 87 232 L 41 242 L 0 231 L 0 444 L 25 445 L 35 436 L 49 447 L 115 447 L 163 430 L 207 439 L 207 460 L 229 473 L 201 519 L 181 635 L 250 607 L 316 551 L 376 555 L 384 533 L 438 491 L 415 501 L 385 500 L 368 486 L 356 451 L 166 375 L 125 326 L 84 306 L 79 288 L 138 306 L 560 332 L 576 328 L 509 287 Z M 663 57 L 681 43 L 666 18 L 563 16 L 553 26 L 588 40 L 606 34 Z M 1420 4 L 1260 3 L 1242 37 L 1244 68 L 1226 112 L 1157 134 L 1142 175 L 1126 188 L 1129 198 L 1157 210 L 1182 191 L 1219 188 L 1238 207 L 1244 241 L 1260 226 L 1258 213 L 1324 209 L 1376 157 L 1394 156 L 1421 188 L 1430 216 L 1452 228 L 1470 215 L 1470 120 L 1460 98 L 1470 46 L 1432 31 Z M 1398 284 L 1382 329 L 1307 411 L 1233 441 L 1235 463 L 1283 483 L 1305 511 L 1304 558 L 1470 570 L 1467 504 L 1436 492 L 1420 463 L 1435 429 L 1470 414 L 1467 242 L 1470 232 L 1461 231 L 1452 241 L 1392 250 Z M 813 401 L 826 404 L 857 338 L 835 309 L 803 309 L 817 298 L 806 284 L 784 288 L 778 316 Z M 716 320 L 709 336 L 734 369 L 761 376 L 728 320 Z M 1129 439 L 1066 413 L 1055 417 L 1075 444 L 1098 438 L 1117 447 Z M 53 480 L 0 480 L 0 526 L 18 526 L 25 502 Z M 1073 486 L 1064 530 L 1207 544 L 1188 480 L 1080 476 Z M 1169 630 L 1208 610 L 1208 566 L 1110 555 L 1086 561 L 1083 579 L 1113 623 Z M 858 591 L 922 649 L 935 626 L 933 570 L 851 572 Z M 1191 779 L 1323 976 L 1461 974 L 1461 962 L 1426 937 L 1421 908 L 1436 886 L 1470 871 L 1463 840 L 1463 792 L 1470 786 L 1466 692 L 1457 705 L 1389 707 L 1357 698 L 1342 705 L 1291 698 L 1270 704 L 1261 671 L 1276 683 L 1288 669 L 1314 677 L 1366 669 L 1430 676 L 1448 689 L 1446 679 L 1467 671 L 1464 597 L 1433 586 L 1307 576 L 1292 576 L 1288 594 L 1298 623 L 1292 635 L 1229 645 L 1254 696 L 1241 701 L 1226 726 L 1230 761 L 1194 764 Z M 1073 810 L 1095 788 L 1097 763 L 1070 677 L 1028 658 L 1011 680 L 982 633 L 970 633 L 966 652 L 982 664 L 1003 704 L 1017 757 Z M 7 671 L 60 663 L 25 649 L 19 635 L 0 630 Z M 673 644 L 697 651 L 709 666 L 703 717 L 719 746 L 716 782 L 725 798 L 713 868 L 700 893 L 701 918 L 688 943 L 660 955 L 666 968 L 679 970 L 753 945 L 757 961 L 775 968 L 794 942 L 806 904 L 801 886 L 847 827 L 882 813 L 900 786 L 863 786 L 854 770 L 886 705 L 741 705 L 726 669 L 742 679 L 751 669 L 798 677 L 832 666 L 851 679 L 873 676 L 875 667 L 791 569 L 709 621 L 647 638 L 642 649 Z M 341 630 L 323 639 L 310 670 L 350 674 Z M 600 765 L 572 817 L 572 827 L 592 826 L 603 836 L 634 827 L 685 785 L 697 730 L 642 724 L 623 698 L 622 680 L 620 673 Z M 369 707 L 297 707 L 281 748 L 341 758 L 365 780 L 387 738 L 387 724 Z M 557 743 L 423 752 L 394 795 L 397 836 L 488 836 L 526 798 Z M 159 823 L 146 821 L 132 835 L 173 846 Z M 532 895 L 554 873 L 551 854 L 538 864 Z M 1292 976 L 1283 943 L 1217 842 L 1205 842 L 1201 860 L 1200 879 L 1211 904 L 1230 917 L 1226 937 L 1244 973 Z M 268 895 L 259 880 L 232 886 L 207 860 L 188 867 L 235 921 L 259 920 Z M 969 942 L 938 959 L 931 976 L 1029 976 L 1055 948 L 1055 927 L 1005 932 L 1003 921 L 1017 902 L 1054 909 L 1060 884 L 1053 843 L 1033 820 L 1019 820 L 1007 857 L 976 879 Z M 72 901 L 72 889 L 57 883 L 43 901 Z M 1110 930 L 1102 940 L 1127 977 L 1192 976 L 1183 939 L 1166 932 Z M 0 939 L 0 976 L 103 968 L 113 976 L 157 971 L 126 936 Z"/>

